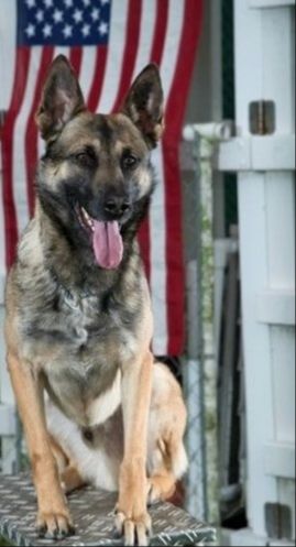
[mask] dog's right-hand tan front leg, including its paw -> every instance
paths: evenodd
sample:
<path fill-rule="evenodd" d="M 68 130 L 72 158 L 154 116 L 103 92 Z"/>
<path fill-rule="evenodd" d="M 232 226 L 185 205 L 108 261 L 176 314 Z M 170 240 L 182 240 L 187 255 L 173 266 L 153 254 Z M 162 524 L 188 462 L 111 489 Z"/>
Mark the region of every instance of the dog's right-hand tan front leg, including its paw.
<path fill-rule="evenodd" d="M 124 455 L 120 468 L 116 527 L 125 545 L 147 545 L 151 519 L 146 511 L 146 444 L 153 357 L 129 363 L 122 375 Z"/>

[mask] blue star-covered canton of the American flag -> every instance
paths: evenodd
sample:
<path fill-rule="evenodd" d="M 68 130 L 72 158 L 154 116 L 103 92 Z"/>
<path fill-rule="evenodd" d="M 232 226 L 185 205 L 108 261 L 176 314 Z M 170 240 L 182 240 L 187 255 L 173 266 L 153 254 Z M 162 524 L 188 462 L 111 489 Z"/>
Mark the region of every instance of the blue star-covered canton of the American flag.
<path fill-rule="evenodd" d="M 18 45 L 106 45 L 111 0 L 18 0 Z"/>

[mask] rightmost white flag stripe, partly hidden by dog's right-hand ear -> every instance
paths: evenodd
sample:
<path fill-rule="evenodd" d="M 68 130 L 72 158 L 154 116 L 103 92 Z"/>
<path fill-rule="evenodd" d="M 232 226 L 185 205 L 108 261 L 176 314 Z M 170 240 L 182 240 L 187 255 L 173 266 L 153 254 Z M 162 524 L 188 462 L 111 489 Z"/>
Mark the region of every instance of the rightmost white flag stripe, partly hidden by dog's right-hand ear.
<path fill-rule="evenodd" d="M 164 53 L 161 63 L 162 83 L 167 100 L 178 57 L 183 28 L 184 0 L 171 0 Z M 166 296 L 166 225 L 165 225 L 165 184 L 162 144 L 153 152 L 153 165 L 157 176 L 157 186 L 150 209 L 151 241 L 151 294 L 154 314 L 153 352 L 156 355 L 167 353 L 167 296 Z"/>

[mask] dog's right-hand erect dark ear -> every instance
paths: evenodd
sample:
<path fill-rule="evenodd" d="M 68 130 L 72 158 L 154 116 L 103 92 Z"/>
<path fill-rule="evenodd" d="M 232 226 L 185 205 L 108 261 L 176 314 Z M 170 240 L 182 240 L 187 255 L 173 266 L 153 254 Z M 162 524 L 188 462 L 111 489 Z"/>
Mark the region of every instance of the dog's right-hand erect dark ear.
<path fill-rule="evenodd" d="M 163 89 L 156 65 L 147 65 L 133 83 L 122 109 L 154 147 L 164 130 Z"/>

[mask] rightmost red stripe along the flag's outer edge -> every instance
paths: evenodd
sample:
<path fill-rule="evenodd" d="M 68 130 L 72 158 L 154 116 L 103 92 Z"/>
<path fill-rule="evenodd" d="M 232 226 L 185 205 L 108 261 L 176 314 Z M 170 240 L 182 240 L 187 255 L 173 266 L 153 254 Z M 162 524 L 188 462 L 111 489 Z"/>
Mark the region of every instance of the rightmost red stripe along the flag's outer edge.
<path fill-rule="evenodd" d="M 178 145 L 201 28 L 202 0 L 185 0 L 184 23 L 176 70 L 166 106 L 163 141 L 166 198 L 167 331 L 168 354 L 184 350 L 184 269 L 182 242 L 182 192 Z"/>

